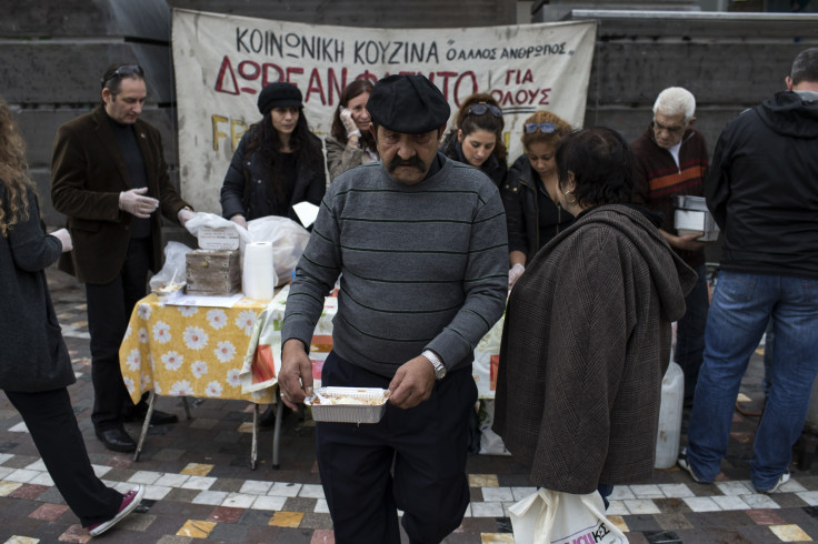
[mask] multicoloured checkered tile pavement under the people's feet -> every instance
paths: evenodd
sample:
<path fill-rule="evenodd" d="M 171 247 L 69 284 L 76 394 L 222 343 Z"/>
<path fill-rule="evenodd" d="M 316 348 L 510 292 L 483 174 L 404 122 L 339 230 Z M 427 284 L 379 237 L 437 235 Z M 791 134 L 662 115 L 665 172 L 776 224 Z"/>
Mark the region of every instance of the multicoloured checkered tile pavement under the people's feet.
<path fill-rule="evenodd" d="M 52 296 L 74 362 L 70 387 L 97 473 L 110 485 L 147 486 L 137 513 L 102 537 L 109 542 L 332 543 L 327 502 L 313 455 L 309 417 L 285 419 L 281 469 L 270 467 L 271 436 L 260 437 L 260 466 L 249 467 L 251 413 L 238 401 L 196 400 L 192 419 L 181 403 L 158 406 L 180 415 L 151 427 L 139 462 L 107 451 L 90 425 L 92 390 L 83 296 L 76 282 L 49 271 Z M 615 490 L 608 511 L 631 543 L 777 543 L 818 538 L 818 463 L 792 465 L 781 493 L 757 494 L 748 482 L 750 444 L 760 399 L 760 356 L 742 384 L 729 455 L 718 482 L 692 483 L 678 470 Z M 128 426 L 137 435 L 136 424 Z M 682 441 L 685 437 L 682 436 Z M 511 457 L 475 455 L 468 462 L 471 505 L 447 543 L 510 543 L 507 507 L 530 493 L 525 469 Z M 20 416 L 0 397 L 0 543 L 87 542 L 88 533 L 64 505 L 44 471 Z M 97 538 L 97 540 L 99 540 Z"/>

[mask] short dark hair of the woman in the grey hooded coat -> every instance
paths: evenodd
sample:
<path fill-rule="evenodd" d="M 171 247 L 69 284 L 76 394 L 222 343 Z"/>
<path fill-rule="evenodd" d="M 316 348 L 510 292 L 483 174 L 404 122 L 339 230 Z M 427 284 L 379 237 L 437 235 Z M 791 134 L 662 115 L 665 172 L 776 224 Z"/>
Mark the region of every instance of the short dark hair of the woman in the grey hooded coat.
<path fill-rule="evenodd" d="M 557 150 L 559 189 L 570 174 L 572 197 L 582 208 L 629 203 L 634 192 L 634 154 L 619 132 L 595 127 L 572 132 Z"/>

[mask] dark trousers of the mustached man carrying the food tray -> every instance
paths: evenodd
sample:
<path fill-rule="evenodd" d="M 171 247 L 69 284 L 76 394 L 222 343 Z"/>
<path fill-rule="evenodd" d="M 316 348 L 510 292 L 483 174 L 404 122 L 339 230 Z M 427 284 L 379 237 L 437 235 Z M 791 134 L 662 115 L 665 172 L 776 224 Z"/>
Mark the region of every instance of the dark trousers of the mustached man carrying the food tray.
<path fill-rule="evenodd" d="M 383 387 L 372 374 L 330 353 L 322 385 Z M 471 367 L 436 382 L 410 410 L 387 405 L 380 423 L 317 423 L 321 485 L 338 544 L 399 544 L 397 508 L 411 543 L 439 543 L 469 504 L 466 475 L 469 414 L 477 402 Z"/>

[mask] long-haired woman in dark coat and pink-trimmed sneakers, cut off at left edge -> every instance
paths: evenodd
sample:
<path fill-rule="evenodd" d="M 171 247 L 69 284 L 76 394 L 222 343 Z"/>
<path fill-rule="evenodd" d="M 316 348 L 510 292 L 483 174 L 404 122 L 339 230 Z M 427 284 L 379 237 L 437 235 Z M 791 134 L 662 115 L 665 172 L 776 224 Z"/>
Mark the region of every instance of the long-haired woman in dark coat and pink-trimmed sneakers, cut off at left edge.
<path fill-rule="evenodd" d="M 44 269 L 71 251 L 66 229 L 42 229 L 24 144 L 0 99 L 0 389 L 22 415 L 62 497 L 91 535 L 137 507 L 144 488 L 126 495 L 93 473 L 71 407 L 77 380 L 62 340 Z"/>

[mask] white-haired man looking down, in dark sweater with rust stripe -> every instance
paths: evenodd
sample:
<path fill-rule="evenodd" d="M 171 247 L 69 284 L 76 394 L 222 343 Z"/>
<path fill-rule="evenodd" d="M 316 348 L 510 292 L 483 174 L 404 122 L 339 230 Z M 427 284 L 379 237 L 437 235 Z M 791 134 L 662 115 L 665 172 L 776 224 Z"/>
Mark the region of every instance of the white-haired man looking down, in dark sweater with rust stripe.
<path fill-rule="evenodd" d="M 634 203 L 665 215 L 659 231 L 676 253 L 699 274 L 685 298 L 687 311 L 676 329 L 676 362 L 685 373 L 685 405 L 694 392 L 704 361 L 705 324 L 709 296 L 705 276 L 705 242 L 699 233 L 679 235 L 674 228 L 674 197 L 705 195 L 707 143 L 692 128 L 696 98 L 687 89 L 670 87 L 654 104 L 654 122 L 631 143 L 636 159 Z"/>

